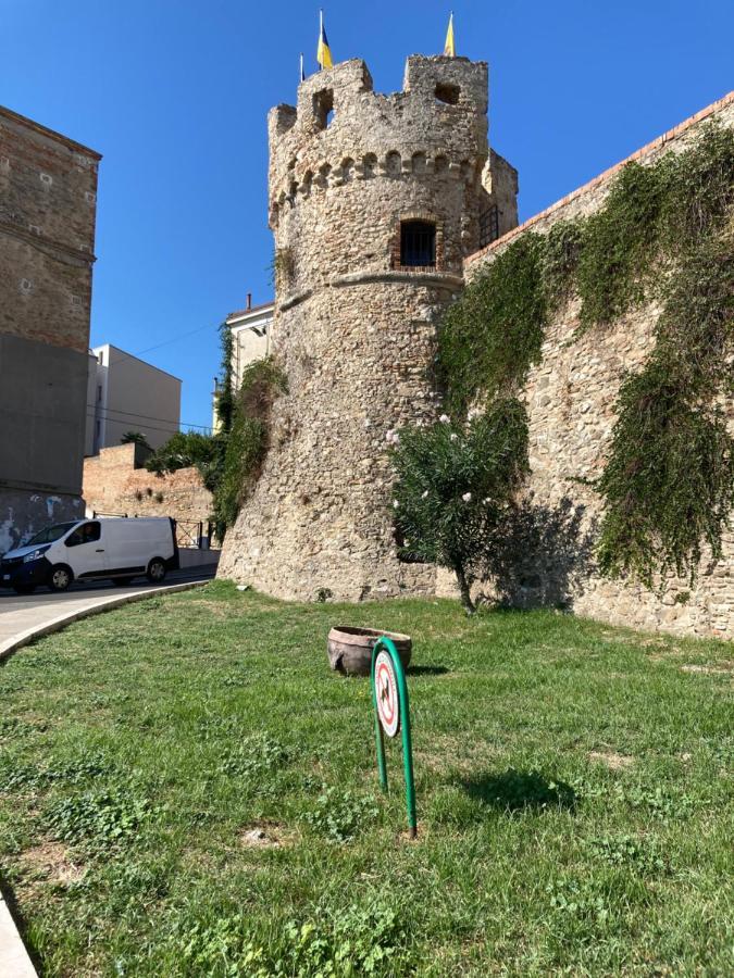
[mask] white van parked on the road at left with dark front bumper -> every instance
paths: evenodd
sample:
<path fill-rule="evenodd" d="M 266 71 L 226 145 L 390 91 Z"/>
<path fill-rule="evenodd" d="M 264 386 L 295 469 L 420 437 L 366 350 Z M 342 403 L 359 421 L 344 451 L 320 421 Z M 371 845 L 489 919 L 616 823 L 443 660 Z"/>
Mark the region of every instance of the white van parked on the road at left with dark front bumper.
<path fill-rule="evenodd" d="M 65 591 L 73 580 L 111 578 L 127 585 L 146 575 L 160 584 L 178 567 L 176 527 L 165 516 L 57 523 L 0 561 L 0 585 L 29 593 L 38 585 Z"/>

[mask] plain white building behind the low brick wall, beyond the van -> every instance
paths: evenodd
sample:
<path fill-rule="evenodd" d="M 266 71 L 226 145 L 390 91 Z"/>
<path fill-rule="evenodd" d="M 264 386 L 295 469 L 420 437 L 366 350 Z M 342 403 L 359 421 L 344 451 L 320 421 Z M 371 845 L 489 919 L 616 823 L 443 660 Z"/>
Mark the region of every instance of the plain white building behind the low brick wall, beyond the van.
<path fill-rule="evenodd" d="M 139 431 L 157 449 L 181 426 L 181 380 L 111 343 L 89 359 L 85 454 Z"/>

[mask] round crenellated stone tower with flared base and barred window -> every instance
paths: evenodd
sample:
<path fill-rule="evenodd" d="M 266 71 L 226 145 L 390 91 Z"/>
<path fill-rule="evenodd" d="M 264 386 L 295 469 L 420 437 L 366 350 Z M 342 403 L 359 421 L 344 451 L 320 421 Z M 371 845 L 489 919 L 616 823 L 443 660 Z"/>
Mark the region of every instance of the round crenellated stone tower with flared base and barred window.
<path fill-rule="evenodd" d="M 487 65 L 408 59 L 403 90 L 363 61 L 301 83 L 269 117 L 273 348 L 288 392 L 220 576 L 270 594 L 433 593 L 398 560 L 386 434 L 435 417 L 437 321 L 462 260 L 517 224 L 517 174 L 487 146 Z"/>

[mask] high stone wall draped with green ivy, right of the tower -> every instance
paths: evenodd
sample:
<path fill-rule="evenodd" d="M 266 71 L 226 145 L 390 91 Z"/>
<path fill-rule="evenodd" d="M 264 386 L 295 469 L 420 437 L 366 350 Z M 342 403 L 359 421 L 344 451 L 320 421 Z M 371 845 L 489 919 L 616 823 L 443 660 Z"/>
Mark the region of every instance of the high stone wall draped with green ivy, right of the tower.
<path fill-rule="evenodd" d="M 466 262 L 447 403 L 530 421 L 508 603 L 734 637 L 733 134 L 730 96 Z"/>

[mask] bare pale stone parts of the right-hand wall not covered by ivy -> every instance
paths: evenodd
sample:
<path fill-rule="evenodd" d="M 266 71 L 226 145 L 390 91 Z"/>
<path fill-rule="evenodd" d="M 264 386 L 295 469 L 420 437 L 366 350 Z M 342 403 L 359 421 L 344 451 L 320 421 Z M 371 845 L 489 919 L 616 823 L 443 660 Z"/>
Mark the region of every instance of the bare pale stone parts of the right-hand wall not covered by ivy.
<path fill-rule="evenodd" d="M 734 126 L 734 93 L 645 147 L 635 159 L 649 163 L 669 150 L 681 151 L 712 118 Z M 621 165 L 473 255 L 466 262 L 468 277 L 481 272 L 525 228 L 547 233 L 556 221 L 597 210 Z M 595 569 L 592 547 L 599 499 L 572 479 L 594 479 L 601 473 L 620 384 L 625 373 L 638 369 L 648 356 L 659 310 L 654 305 L 636 310 L 613 327 L 596 328 L 575 339 L 577 313 L 574 302 L 550 324 L 543 362 L 528 378 L 525 402 L 533 498 L 522 526 L 525 560 L 508 572 L 501 589 L 521 605 L 568 599 L 579 614 L 612 624 L 734 638 L 732 531 L 725 536 L 723 559 L 712 567 L 704 565 L 698 586 L 685 603 L 676 603 L 676 595 L 683 598 L 682 592 L 688 591 L 685 580 L 671 579 L 659 600 L 639 586 L 601 578 Z M 734 430 L 734 404 L 730 401 L 726 408 Z M 447 576 L 440 575 L 439 591 L 449 589 Z"/>

